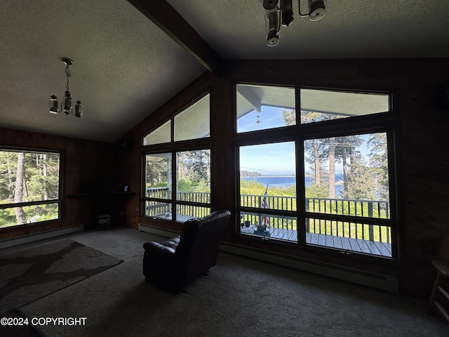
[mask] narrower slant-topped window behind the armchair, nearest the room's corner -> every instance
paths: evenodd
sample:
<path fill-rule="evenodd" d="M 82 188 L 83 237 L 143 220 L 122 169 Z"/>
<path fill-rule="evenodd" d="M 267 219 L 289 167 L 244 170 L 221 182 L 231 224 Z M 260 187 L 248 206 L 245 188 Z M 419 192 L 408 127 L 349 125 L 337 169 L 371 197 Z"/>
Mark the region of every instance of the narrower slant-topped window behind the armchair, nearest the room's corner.
<path fill-rule="evenodd" d="M 163 153 L 145 147 L 144 216 L 184 222 L 210 213 L 209 105 L 206 95 L 144 137 L 143 145 L 170 143 Z"/>

